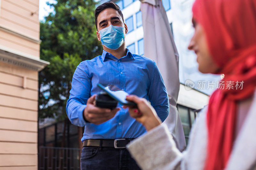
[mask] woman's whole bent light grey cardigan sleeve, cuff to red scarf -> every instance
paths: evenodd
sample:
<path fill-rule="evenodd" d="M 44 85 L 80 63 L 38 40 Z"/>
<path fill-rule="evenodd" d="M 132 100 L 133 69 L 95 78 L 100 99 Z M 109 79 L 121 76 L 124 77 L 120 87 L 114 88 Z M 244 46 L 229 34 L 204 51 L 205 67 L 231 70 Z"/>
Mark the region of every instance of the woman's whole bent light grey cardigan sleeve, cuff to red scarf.
<path fill-rule="evenodd" d="M 166 124 L 149 130 L 126 147 L 142 170 L 204 169 L 206 159 L 206 110 L 196 117 L 186 151 L 180 152 Z"/>

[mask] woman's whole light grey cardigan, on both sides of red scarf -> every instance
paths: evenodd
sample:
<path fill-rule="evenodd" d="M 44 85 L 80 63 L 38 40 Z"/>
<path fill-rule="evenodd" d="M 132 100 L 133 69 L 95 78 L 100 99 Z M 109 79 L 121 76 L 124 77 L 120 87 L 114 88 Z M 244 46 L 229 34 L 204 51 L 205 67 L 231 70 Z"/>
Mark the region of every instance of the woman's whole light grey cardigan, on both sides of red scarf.
<path fill-rule="evenodd" d="M 237 134 L 226 167 L 227 170 L 256 169 L 255 94 L 249 101 L 249 105 L 248 102 L 247 104 L 238 104 L 238 114 L 247 115 Z M 249 106 L 249 108 L 243 109 L 243 105 Z M 184 152 L 180 152 L 176 148 L 172 135 L 165 124 L 161 124 L 135 139 L 127 145 L 127 149 L 143 170 L 203 170 L 207 152 L 206 111 L 206 108 L 203 109 L 196 118 L 189 135 L 187 150 Z"/>

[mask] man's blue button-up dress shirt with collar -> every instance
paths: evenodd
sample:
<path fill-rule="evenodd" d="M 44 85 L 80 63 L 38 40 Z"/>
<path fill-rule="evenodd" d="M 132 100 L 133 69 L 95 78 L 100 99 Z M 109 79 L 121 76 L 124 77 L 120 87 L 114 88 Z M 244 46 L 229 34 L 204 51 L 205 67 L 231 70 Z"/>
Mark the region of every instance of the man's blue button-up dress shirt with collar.
<path fill-rule="evenodd" d="M 81 62 L 74 72 L 66 112 L 72 124 L 85 126 L 85 139 L 136 138 L 146 132 L 144 126 L 121 108 L 116 115 L 100 125 L 84 121 L 83 110 L 87 99 L 101 92 L 97 86 L 116 85 L 120 89 L 144 97 L 155 108 L 162 121 L 169 114 L 169 98 L 156 63 L 144 56 L 132 54 L 117 59 L 103 50 L 102 55 Z M 118 104 L 118 107 L 121 107 Z"/>

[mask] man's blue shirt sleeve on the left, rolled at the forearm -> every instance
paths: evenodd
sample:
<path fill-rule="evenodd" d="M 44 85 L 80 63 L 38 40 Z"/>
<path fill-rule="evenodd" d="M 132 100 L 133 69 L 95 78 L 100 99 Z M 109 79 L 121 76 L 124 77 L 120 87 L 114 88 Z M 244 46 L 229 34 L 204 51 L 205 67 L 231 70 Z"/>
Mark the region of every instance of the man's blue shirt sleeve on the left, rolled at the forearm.
<path fill-rule="evenodd" d="M 73 75 L 69 99 L 67 101 L 66 112 L 70 122 L 76 126 L 85 126 L 83 111 L 86 107 L 91 92 L 91 78 L 88 70 L 81 62 Z"/>

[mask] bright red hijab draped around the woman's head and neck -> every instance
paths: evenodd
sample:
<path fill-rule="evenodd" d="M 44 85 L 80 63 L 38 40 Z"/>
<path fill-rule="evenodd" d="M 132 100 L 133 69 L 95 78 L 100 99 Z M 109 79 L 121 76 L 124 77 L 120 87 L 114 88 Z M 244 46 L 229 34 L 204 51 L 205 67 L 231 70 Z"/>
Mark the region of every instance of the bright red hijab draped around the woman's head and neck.
<path fill-rule="evenodd" d="M 237 102 L 251 97 L 256 87 L 256 0 L 196 0 L 193 17 L 204 28 L 219 73 L 225 74 L 224 89 L 212 93 L 207 112 L 205 169 L 219 170 L 233 148 Z M 234 89 L 228 90 L 230 83 Z"/>

